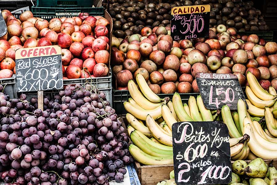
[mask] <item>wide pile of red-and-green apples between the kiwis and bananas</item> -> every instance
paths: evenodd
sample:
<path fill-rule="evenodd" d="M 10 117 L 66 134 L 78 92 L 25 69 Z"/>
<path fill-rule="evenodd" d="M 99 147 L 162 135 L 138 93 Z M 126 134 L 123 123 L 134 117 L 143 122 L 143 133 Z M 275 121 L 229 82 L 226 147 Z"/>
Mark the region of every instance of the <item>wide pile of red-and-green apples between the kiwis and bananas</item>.
<path fill-rule="evenodd" d="M 195 74 L 233 73 L 242 87 L 252 72 L 264 89 L 277 90 L 277 44 L 257 35 L 237 35 L 235 28 L 210 28 L 208 38 L 174 41 L 170 27 L 144 27 L 125 39 L 112 37 L 111 65 L 116 89 L 142 74 L 153 92 L 199 92 Z"/>

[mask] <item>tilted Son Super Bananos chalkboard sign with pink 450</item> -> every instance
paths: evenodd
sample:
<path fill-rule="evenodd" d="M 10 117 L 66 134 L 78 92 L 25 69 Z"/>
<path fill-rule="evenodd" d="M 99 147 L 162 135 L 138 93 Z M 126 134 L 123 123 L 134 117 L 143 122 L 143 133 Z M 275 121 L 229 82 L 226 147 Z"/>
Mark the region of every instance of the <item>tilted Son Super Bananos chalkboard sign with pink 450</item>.
<path fill-rule="evenodd" d="M 239 79 L 234 74 L 197 73 L 196 82 L 207 109 L 221 109 L 228 105 L 237 109 L 239 99 L 245 101 Z M 248 109 L 248 105 L 246 104 Z"/>

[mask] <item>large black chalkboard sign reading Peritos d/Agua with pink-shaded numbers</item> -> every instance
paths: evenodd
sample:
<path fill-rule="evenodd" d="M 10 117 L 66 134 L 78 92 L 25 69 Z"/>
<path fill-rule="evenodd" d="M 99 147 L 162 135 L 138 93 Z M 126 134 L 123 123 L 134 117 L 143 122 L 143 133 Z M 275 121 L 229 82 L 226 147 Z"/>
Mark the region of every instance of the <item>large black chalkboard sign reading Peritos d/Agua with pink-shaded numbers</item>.
<path fill-rule="evenodd" d="M 172 141 L 177 185 L 231 182 L 229 133 L 223 122 L 177 122 Z"/>

